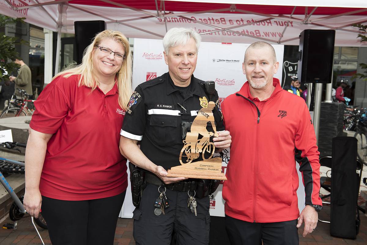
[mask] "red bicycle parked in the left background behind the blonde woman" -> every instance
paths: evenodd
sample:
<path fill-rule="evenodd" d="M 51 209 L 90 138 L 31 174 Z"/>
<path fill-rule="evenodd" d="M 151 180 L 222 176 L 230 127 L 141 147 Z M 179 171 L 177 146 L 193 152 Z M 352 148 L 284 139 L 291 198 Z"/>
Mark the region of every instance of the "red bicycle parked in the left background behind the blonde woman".
<path fill-rule="evenodd" d="M 21 98 L 22 99 L 21 100 L 15 100 L 15 102 L 11 102 L 11 105 L 13 105 L 14 107 L 11 107 L 11 108 L 8 108 L 8 109 L 4 110 L 1 113 L 0 118 L 28 116 L 27 111 L 30 115 L 33 115 L 34 110 L 29 109 L 27 105 L 28 105 L 28 102 L 34 102 L 36 100 L 28 99 L 30 95 L 27 94 L 26 91 L 24 91 L 23 89 L 19 89 L 19 88 L 17 88 L 17 89 L 21 93 Z M 12 101 L 12 99 L 10 101 Z M 9 105 L 10 105 L 10 103 L 9 103 Z M 24 110 L 24 109 L 26 109 L 26 110 Z"/>

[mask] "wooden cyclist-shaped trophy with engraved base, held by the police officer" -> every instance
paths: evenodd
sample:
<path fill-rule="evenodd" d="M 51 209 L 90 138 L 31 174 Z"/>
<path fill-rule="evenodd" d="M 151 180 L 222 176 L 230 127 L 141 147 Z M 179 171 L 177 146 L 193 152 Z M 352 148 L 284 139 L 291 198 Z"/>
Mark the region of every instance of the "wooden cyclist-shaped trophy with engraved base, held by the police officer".
<path fill-rule="evenodd" d="M 204 100 L 205 99 L 205 100 Z M 167 177 L 185 177 L 196 179 L 220 179 L 227 180 L 222 173 L 222 158 L 214 157 L 215 146 L 210 142 L 210 137 L 218 136 L 214 123 L 212 110 L 215 103 L 207 102 L 206 98 L 200 99 L 200 105 L 203 106 L 197 113 L 195 120 L 192 122 L 190 131 L 183 140 L 183 147 L 179 156 L 181 166 L 168 169 Z M 214 132 L 208 132 L 207 122 L 211 122 Z M 198 139 L 199 135 L 203 136 Z M 201 156 L 203 161 L 195 161 Z"/>

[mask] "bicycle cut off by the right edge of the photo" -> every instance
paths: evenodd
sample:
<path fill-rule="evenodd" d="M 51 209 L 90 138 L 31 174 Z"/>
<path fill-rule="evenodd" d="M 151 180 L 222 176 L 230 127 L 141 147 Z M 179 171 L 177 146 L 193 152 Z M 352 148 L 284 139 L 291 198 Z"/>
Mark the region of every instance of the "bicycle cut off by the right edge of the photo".
<path fill-rule="evenodd" d="M 367 165 L 367 116 L 365 110 L 358 110 L 353 116 L 357 139 L 357 157 L 364 165 Z"/>

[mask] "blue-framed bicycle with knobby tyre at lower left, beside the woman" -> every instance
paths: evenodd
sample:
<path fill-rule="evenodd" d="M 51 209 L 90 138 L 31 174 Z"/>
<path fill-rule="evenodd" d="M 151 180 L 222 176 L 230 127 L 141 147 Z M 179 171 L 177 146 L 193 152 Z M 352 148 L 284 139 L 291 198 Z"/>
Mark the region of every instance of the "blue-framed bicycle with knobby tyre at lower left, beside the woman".
<path fill-rule="evenodd" d="M 0 143 L 0 146 L 6 147 L 7 149 L 11 149 L 11 150 L 18 150 L 20 152 L 21 150 L 19 150 L 19 148 L 17 147 L 25 148 L 26 144 L 18 143 L 18 142 L 4 142 L 4 143 Z M 15 194 L 14 190 L 12 189 L 10 184 L 7 182 L 4 174 L 6 173 L 24 174 L 25 173 L 25 163 L 14 161 L 14 160 L 4 158 L 4 157 L 0 157 L 0 161 L 1 161 L 0 162 L 0 183 L 3 185 L 3 187 L 6 189 L 6 191 L 9 193 L 10 197 L 14 201 L 9 210 L 9 217 L 12 221 L 14 221 L 14 230 L 16 230 L 18 220 L 25 218 L 25 217 L 29 217 L 29 216 L 24 216 L 26 214 L 26 211 L 23 206 L 23 196 L 19 198 L 17 194 Z M 36 223 L 39 227 L 47 229 L 47 223 L 44 220 L 44 218 L 42 217 L 42 214 L 40 213 L 38 218 L 32 217 L 32 223 L 42 243 L 44 244 L 43 239 L 41 238 L 41 235 L 35 225 Z"/>

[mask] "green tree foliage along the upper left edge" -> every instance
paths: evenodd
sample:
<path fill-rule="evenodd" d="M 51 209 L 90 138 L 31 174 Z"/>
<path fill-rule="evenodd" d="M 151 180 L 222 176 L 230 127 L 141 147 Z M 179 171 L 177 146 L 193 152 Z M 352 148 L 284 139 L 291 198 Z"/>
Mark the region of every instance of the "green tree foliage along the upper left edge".
<path fill-rule="evenodd" d="M 7 27 L 17 22 L 24 23 L 24 19 L 11 18 L 0 14 L 0 27 Z M 9 81 L 9 74 L 20 67 L 18 64 L 11 62 L 19 58 L 15 45 L 29 45 L 29 43 L 22 39 L 18 40 L 18 37 L 10 37 L 6 36 L 5 33 L 0 33 L 0 80 Z"/>

